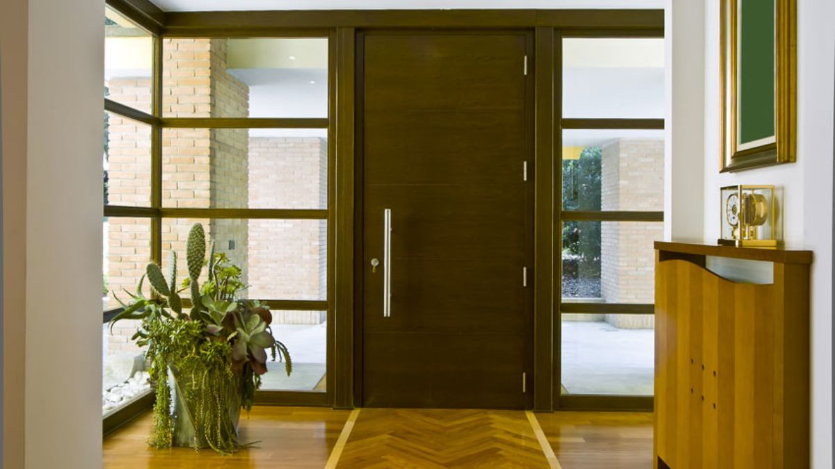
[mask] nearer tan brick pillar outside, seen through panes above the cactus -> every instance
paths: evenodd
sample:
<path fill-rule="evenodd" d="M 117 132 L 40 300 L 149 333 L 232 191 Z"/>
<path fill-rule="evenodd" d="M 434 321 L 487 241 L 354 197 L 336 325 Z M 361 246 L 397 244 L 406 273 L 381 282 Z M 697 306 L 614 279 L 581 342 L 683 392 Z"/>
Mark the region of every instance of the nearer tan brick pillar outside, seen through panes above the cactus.
<path fill-rule="evenodd" d="M 225 39 L 165 39 L 163 115 L 247 117 L 249 88 L 226 71 Z M 247 129 L 165 129 L 163 206 L 245 208 L 248 199 Z M 163 251 L 185 251 L 192 224 L 204 224 L 215 249 L 246 272 L 245 220 L 166 220 Z M 178 275 L 185 277 L 184 263 Z M 246 281 L 246 278 L 244 279 Z"/>

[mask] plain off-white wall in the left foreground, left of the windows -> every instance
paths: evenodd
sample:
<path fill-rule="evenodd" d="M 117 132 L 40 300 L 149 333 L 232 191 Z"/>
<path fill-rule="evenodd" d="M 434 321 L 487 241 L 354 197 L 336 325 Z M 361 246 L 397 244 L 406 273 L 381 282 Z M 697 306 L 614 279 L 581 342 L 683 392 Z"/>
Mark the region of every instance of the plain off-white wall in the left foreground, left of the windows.
<path fill-rule="evenodd" d="M 28 6 L 26 467 L 90 469 L 102 437 L 104 3 Z"/>

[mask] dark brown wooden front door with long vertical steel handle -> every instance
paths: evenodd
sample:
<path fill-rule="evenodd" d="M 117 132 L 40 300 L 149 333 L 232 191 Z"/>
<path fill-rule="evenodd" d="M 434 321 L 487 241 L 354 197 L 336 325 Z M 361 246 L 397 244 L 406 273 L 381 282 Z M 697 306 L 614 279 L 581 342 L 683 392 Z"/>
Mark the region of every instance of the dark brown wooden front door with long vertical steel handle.
<path fill-rule="evenodd" d="M 529 406 L 529 41 L 360 37 L 365 406 Z"/>

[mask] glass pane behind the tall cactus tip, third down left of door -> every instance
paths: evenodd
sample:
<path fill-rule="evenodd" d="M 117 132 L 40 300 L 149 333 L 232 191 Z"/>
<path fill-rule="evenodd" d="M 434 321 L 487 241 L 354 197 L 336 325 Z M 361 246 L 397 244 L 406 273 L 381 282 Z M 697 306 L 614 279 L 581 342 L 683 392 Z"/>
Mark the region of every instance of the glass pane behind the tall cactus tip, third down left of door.
<path fill-rule="evenodd" d="M 168 252 L 185 253 L 191 226 L 202 223 L 215 251 L 244 271 L 250 285 L 241 297 L 260 300 L 327 299 L 327 221 L 318 219 L 163 219 L 164 264 Z M 185 262 L 177 265 L 185 279 Z M 206 271 L 202 278 L 205 280 Z M 180 280 L 178 280 L 179 282 Z"/>

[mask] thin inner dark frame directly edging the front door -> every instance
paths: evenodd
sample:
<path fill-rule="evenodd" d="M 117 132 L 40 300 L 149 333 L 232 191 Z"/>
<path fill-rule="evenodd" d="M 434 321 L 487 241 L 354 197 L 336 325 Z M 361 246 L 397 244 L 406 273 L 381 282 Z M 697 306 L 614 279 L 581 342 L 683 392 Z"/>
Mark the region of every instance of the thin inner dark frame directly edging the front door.
<path fill-rule="evenodd" d="M 460 34 L 460 35 L 490 35 L 490 34 L 513 34 L 524 37 L 525 40 L 525 54 L 528 57 L 528 69 L 525 77 L 525 132 L 527 137 L 525 139 L 524 153 L 527 155 L 528 174 L 535 174 L 534 161 L 534 32 L 525 28 L 373 28 L 355 30 L 354 37 L 354 84 L 355 92 L 353 97 L 354 103 L 354 159 L 353 159 L 353 310 L 352 310 L 352 355 L 353 355 L 353 404 L 354 406 L 362 407 L 364 404 L 364 342 L 363 342 L 363 312 L 364 312 L 364 280 L 365 280 L 365 245 L 364 245 L 364 207 L 365 207 L 365 146 L 364 146 L 364 106 L 365 106 L 365 38 L 374 35 L 407 35 L 407 34 L 421 34 L 421 35 L 443 35 L 443 34 Z M 525 213 L 525 237 L 529 239 L 528 249 L 525 252 L 525 264 L 528 266 L 529 279 L 533 280 L 536 276 L 534 267 L 534 240 L 536 231 L 534 229 L 534 181 L 529 177 L 527 187 L 525 189 L 525 200 L 528 209 Z M 525 295 L 524 310 L 527 325 L 525 326 L 525 362 L 524 370 L 528 374 L 526 376 L 526 386 L 528 391 L 525 393 L 525 408 L 530 409 L 534 403 L 534 288 L 533 282 L 529 283 L 527 295 Z"/>

